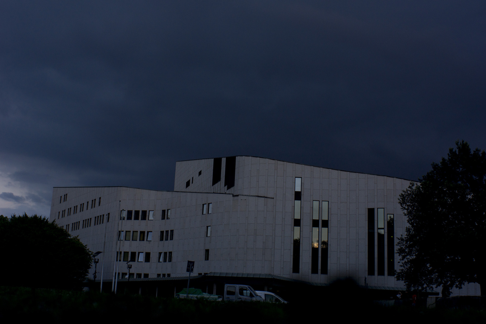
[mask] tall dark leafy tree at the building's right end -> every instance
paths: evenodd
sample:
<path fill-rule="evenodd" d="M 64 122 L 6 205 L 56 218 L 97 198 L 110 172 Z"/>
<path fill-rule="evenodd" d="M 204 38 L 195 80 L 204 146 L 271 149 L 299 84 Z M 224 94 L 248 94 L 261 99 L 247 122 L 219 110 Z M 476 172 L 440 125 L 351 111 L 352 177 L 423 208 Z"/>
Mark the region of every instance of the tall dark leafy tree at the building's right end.
<path fill-rule="evenodd" d="M 399 238 L 397 279 L 408 289 L 486 283 L 486 153 L 456 142 L 446 158 L 399 197 L 408 218 Z"/>

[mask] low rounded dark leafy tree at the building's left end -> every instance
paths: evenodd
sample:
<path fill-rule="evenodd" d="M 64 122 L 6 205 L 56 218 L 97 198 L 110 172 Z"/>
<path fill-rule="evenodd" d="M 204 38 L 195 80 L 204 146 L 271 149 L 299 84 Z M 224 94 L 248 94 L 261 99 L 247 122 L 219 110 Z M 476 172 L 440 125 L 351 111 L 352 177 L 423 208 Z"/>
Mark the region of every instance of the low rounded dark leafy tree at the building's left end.
<path fill-rule="evenodd" d="M 27 214 L 0 216 L 1 286 L 79 289 L 92 253 L 77 237 Z"/>

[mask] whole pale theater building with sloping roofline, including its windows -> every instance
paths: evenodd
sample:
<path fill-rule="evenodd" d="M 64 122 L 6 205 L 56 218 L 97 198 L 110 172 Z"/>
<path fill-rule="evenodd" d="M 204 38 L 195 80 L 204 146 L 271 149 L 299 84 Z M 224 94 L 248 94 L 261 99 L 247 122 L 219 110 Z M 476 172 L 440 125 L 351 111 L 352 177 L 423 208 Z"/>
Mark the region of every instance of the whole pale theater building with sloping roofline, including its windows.
<path fill-rule="evenodd" d="M 149 287 L 183 280 L 192 260 L 196 282 L 212 278 L 210 293 L 231 280 L 270 289 L 344 277 L 401 290 L 393 272 L 407 224 L 398 198 L 409 184 L 253 156 L 188 160 L 176 163 L 174 191 L 53 188 L 50 220 L 103 252 L 98 280 L 103 264 L 104 281 L 117 273 L 120 285 L 127 264 L 131 282 Z"/>

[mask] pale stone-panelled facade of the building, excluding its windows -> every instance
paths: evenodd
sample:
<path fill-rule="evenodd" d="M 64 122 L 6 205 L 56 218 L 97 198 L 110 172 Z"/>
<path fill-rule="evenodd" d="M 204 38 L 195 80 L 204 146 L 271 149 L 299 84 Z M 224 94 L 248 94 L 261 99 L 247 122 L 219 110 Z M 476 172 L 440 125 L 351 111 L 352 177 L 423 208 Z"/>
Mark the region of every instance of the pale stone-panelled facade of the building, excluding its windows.
<path fill-rule="evenodd" d="M 218 178 L 213 176 L 214 161 L 218 159 L 177 162 L 175 191 L 126 187 L 53 188 L 50 219 L 65 228 L 69 225 L 69 232 L 78 235 L 93 252 L 103 251 L 106 242 L 104 279 L 111 278 L 115 254 L 120 250 L 136 252 L 137 258 L 140 252 L 149 252 L 150 262 L 131 262 L 132 273 L 146 273 L 149 277 L 167 273 L 184 276 L 187 260 L 194 260 L 195 273 L 270 273 L 316 283 L 352 277 L 362 285 L 366 278 L 372 286 L 403 286 L 388 275 L 386 260 L 384 275 L 378 275 L 376 238 L 373 246 L 375 273 L 368 273 L 367 210 L 384 208 L 385 215 L 394 215 L 396 244 L 407 225 L 398 198 L 409 186 L 409 180 L 260 157 L 231 158 L 235 166 L 234 179 L 228 179 L 228 174 L 233 176 L 226 171 L 229 162 L 223 157 L 221 170 L 216 168 L 221 172 L 220 180 L 214 185 L 213 180 Z M 296 177 L 302 178 L 301 237 L 299 271 L 293 273 Z M 234 182 L 232 188 L 225 185 L 228 181 Z M 93 208 L 92 200 L 96 200 Z M 312 201 L 320 202 L 319 215 L 322 202 L 329 202 L 328 274 L 311 273 Z M 84 210 L 80 211 L 83 203 Z M 202 206 L 209 203 L 212 213 L 203 215 Z M 75 206 L 77 212 L 73 213 Z M 154 211 L 154 219 L 119 223 L 120 209 Z M 170 219 L 162 220 L 162 210 L 168 209 L 171 209 Z M 66 215 L 62 217 L 64 210 Z M 106 222 L 108 213 L 110 220 Z M 94 219 L 101 215 L 105 215 L 104 222 L 94 225 Z M 91 219 L 91 226 L 83 228 L 83 221 L 87 219 Z M 77 222 L 80 225 L 73 230 Z M 375 220 L 374 224 L 376 236 L 378 222 Z M 207 226 L 211 226 L 209 237 Z M 165 240 L 165 231 L 170 230 L 174 230 L 174 237 Z M 117 241 L 119 231 L 143 231 L 145 235 L 150 231 L 152 240 Z M 160 240 L 160 231 L 164 231 L 164 240 Z M 387 239 L 385 228 L 385 257 Z M 116 243 L 121 248 L 115 248 Z M 208 260 L 205 260 L 206 250 L 209 250 Z M 172 262 L 158 262 L 159 253 L 164 252 L 172 252 Z M 102 255 L 99 257 L 98 271 Z M 397 261 L 395 255 L 395 269 L 398 269 Z M 127 272 L 124 262 L 119 267 L 119 273 Z"/>

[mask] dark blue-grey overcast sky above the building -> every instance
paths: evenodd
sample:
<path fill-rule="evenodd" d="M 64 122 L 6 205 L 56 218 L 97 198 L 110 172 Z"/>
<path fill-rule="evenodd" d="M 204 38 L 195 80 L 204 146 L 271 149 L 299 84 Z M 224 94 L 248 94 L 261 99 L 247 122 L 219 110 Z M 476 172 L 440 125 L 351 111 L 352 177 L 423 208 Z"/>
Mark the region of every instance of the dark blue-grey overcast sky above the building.
<path fill-rule="evenodd" d="M 486 149 L 486 1 L 0 2 L 0 214 L 256 155 L 416 180 Z"/>

